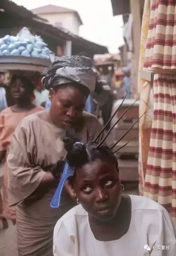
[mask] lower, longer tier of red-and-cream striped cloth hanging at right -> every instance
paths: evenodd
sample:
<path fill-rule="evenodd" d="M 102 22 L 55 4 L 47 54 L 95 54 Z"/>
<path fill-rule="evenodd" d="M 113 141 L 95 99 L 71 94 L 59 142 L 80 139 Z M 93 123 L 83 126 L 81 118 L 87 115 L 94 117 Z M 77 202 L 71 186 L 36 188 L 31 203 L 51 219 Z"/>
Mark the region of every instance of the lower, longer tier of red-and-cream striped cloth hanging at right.
<path fill-rule="evenodd" d="M 176 75 L 156 74 L 153 89 L 144 196 L 163 205 L 176 223 Z"/>

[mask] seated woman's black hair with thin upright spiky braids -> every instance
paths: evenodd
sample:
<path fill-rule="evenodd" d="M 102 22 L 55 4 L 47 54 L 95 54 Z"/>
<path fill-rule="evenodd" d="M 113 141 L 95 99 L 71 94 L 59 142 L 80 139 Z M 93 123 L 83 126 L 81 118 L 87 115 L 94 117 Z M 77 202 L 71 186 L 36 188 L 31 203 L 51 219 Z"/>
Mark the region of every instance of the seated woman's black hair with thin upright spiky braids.
<path fill-rule="evenodd" d="M 108 120 L 107 124 L 104 125 L 104 127 L 101 129 L 101 131 L 98 133 L 96 138 L 93 141 L 89 141 L 86 144 L 75 144 L 75 142 L 80 141 L 79 138 L 76 136 L 75 131 L 73 128 L 68 127 L 66 129 L 66 136 L 63 138 L 64 147 L 67 150 L 67 156 L 66 160 L 68 161 L 69 165 L 75 165 L 75 167 L 81 167 L 87 163 L 91 163 L 95 160 L 111 160 L 118 169 L 118 161 L 116 159 L 115 153 L 118 152 L 121 148 L 125 147 L 131 140 L 136 139 L 135 137 L 131 140 L 129 140 L 127 143 L 122 145 L 120 148 L 116 149 L 115 151 L 112 151 L 116 147 L 116 145 L 121 141 L 124 136 L 131 131 L 131 129 L 134 127 L 135 124 L 137 124 L 140 120 L 140 118 L 145 115 L 145 112 L 142 116 L 135 121 L 135 123 L 132 124 L 132 126 L 126 131 L 115 143 L 113 143 L 110 147 L 104 146 L 103 143 L 105 139 L 108 137 L 109 133 L 112 131 L 112 129 L 115 127 L 116 124 L 119 123 L 119 121 L 122 119 L 122 117 L 125 115 L 125 113 L 136 103 L 134 103 L 124 111 L 124 113 L 119 117 L 119 119 L 115 122 L 115 124 L 112 125 L 112 127 L 107 131 L 107 133 L 104 135 L 103 139 L 100 140 L 101 134 L 104 132 L 107 125 L 110 123 L 110 121 L 113 119 L 113 117 L 116 115 L 117 111 L 120 109 L 121 105 L 123 104 L 126 96 L 124 97 L 123 101 L 120 103 L 119 107 L 116 109 L 116 111 L 113 113 L 111 118 Z M 61 172 L 63 171 L 65 162 L 58 161 L 57 164 L 52 168 L 52 174 L 54 177 L 59 177 Z"/>

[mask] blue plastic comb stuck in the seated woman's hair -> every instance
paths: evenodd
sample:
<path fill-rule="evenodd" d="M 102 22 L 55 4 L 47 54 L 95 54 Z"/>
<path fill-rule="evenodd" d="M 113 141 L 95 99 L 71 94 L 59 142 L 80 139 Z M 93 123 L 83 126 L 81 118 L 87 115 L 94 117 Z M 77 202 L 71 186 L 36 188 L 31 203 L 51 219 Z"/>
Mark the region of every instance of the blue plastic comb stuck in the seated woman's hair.
<path fill-rule="evenodd" d="M 81 142 L 76 142 L 75 144 L 84 144 L 84 143 L 81 143 Z M 74 145 L 75 145 L 74 144 Z M 64 166 L 64 171 L 62 173 L 62 176 L 61 176 L 61 179 L 60 179 L 60 182 L 59 182 L 59 185 L 56 189 L 56 192 L 55 194 L 53 195 L 53 198 L 51 200 L 51 203 L 50 203 L 50 206 L 52 208 L 59 208 L 59 205 L 60 205 L 60 197 L 61 197 L 61 193 L 62 193 L 62 190 L 63 190 L 63 187 L 64 187 L 64 184 L 65 184 L 65 181 L 74 175 L 74 172 L 75 172 L 75 166 L 72 165 L 70 166 L 68 164 L 68 162 L 66 161 L 65 163 L 65 166 Z"/>

